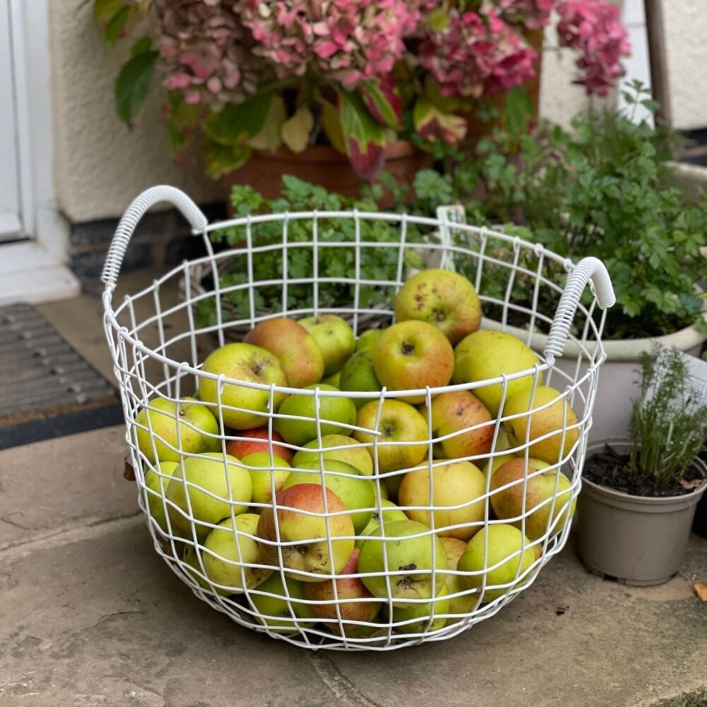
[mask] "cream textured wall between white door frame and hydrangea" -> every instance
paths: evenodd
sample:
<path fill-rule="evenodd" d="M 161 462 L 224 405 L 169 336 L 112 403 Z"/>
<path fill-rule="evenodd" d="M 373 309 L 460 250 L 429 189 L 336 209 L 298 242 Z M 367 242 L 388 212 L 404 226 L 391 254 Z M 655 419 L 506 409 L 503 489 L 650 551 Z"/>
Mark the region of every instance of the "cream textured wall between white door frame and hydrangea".
<path fill-rule="evenodd" d="M 180 167 L 168 156 L 156 95 L 132 130 L 115 115 L 113 81 L 129 47 L 105 46 L 93 2 L 48 1 L 59 209 L 73 222 L 119 216 L 156 184 L 181 187 L 201 203 L 218 199 L 198 151 Z"/>

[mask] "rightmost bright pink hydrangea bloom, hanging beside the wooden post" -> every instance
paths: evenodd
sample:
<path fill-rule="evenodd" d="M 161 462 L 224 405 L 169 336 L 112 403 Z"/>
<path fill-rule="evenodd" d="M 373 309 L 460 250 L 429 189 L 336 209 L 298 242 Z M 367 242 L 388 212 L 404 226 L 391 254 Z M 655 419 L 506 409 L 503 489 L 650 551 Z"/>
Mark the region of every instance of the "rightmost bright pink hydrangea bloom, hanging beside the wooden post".
<path fill-rule="evenodd" d="M 624 75 L 621 58 L 631 53 L 619 7 L 607 0 L 562 0 L 557 11 L 560 46 L 580 54 L 576 63 L 581 74 L 575 83 L 583 84 L 588 93 L 607 95 Z"/>

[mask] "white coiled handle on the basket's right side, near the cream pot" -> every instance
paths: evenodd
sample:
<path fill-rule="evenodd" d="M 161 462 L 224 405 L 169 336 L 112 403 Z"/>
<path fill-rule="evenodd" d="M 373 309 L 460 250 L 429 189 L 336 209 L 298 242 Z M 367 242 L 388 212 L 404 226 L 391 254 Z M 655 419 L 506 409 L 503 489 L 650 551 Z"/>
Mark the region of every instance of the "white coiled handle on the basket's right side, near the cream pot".
<path fill-rule="evenodd" d="M 544 351 L 545 363 L 548 366 L 554 366 L 555 358 L 562 356 L 577 305 L 590 280 L 600 308 L 609 309 L 616 303 L 612 279 L 604 263 L 595 257 L 581 259 L 567 277 L 565 291 L 562 293 L 550 327 Z"/>

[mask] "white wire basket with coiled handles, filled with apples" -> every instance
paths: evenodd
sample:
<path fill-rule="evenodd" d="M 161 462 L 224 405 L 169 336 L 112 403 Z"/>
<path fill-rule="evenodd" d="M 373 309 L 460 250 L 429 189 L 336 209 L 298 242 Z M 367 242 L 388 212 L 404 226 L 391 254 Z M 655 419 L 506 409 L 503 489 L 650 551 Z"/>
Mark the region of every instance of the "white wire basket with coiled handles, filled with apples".
<path fill-rule="evenodd" d="M 114 303 L 117 277 L 136 223 L 159 201 L 169 201 L 180 209 L 194 235 L 204 239 L 208 255 L 183 262 L 152 286 Z M 295 223 L 305 226 L 308 240 L 288 238 Z M 385 224 L 395 238 L 366 240 L 372 223 Z M 209 236 L 224 228 L 238 233 L 238 245 L 214 252 Z M 350 254 L 350 271 L 340 277 L 320 277 L 320 267 L 333 248 Z M 307 254 L 311 265 L 308 276 L 293 276 L 291 264 L 298 252 Z M 268 254 L 276 257 L 278 267 L 267 280 L 255 280 L 254 263 Z M 356 336 L 371 323 L 392 324 L 392 300 L 411 272 L 410 255 L 416 256 L 418 267 L 421 258 L 430 267 L 441 263 L 467 276 L 484 308 L 482 328 L 503 331 L 513 321 L 513 331 L 518 333 L 520 327 L 525 344 L 532 348 L 543 341 L 544 349 L 534 352 L 537 360 L 532 366 L 481 381 L 418 390 L 383 387 L 376 392 L 267 385 L 201 369 L 204 352 L 238 338 L 233 332 L 274 317 L 296 319 L 334 313 L 351 322 Z M 389 267 L 385 278 L 363 279 L 361 264 L 370 262 L 371 257 L 395 262 L 395 266 L 392 270 Z M 241 271 L 245 277 L 228 284 L 222 279 L 226 269 Z M 210 278 L 204 278 L 205 272 Z M 495 289 L 485 291 L 491 276 Z M 566 543 L 580 491 L 598 373 L 605 358 L 601 341 L 605 310 L 614 303 L 609 276 L 599 260 L 585 258 L 575 265 L 536 243 L 496 230 L 455 224 L 452 233 L 443 221 L 406 214 L 322 211 L 247 216 L 209 224 L 178 189 L 153 187 L 135 199 L 119 223 L 103 281 L 107 341 L 122 395 L 139 505 L 154 548 L 195 595 L 237 624 L 312 649 L 392 650 L 441 641 L 496 614 L 532 585 L 542 566 Z M 503 283 L 501 296 L 499 281 Z M 528 293 L 525 303 L 515 302 L 511 296 L 519 284 Z M 582 300 L 588 284 L 591 297 Z M 168 305 L 165 293 L 177 285 L 182 298 L 176 305 Z M 300 294 L 311 293 L 308 306 L 288 306 L 288 292 L 293 288 Z M 258 304 L 264 292 L 269 293 L 270 308 Z M 281 295 L 279 306 L 272 305 L 272 293 Z M 559 300 L 554 317 L 538 308 L 547 298 Z M 234 307 L 234 301 L 239 308 Z M 200 315 L 206 304 L 210 315 L 204 322 Z M 158 343 L 148 346 L 144 341 L 151 336 L 156 336 Z M 578 353 L 561 358 L 567 341 Z M 524 411 L 510 414 L 505 407 L 509 385 L 520 379 L 527 383 L 529 402 Z M 195 403 L 193 396 L 206 381 L 216 383 L 216 398 Z M 224 414 L 230 420 L 230 412 L 244 411 L 223 395 L 234 385 L 240 386 L 238 390 L 257 391 L 267 399 L 267 406 L 258 413 L 259 426 L 267 430 L 265 467 L 246 468 L 237 457 L 227 456 L 227 448 L 232 448 L 229 445 L 249 437 L 224 424 Z M 436 433 L 431 414 L 438 396 L 465 395 L 489 385 L 500 390 L 496 416 L 446 436 Z M 536 396 L 540 385 L 554 387 L 556 395 L 541 400 Z M 277 403 L 289 395 L 311 397 L 312 417 L 281 412 Z M 358 469 L 349 467 L 342 472 L 332 467 L 323 453 L 347 446 L 326 447 L 322 442 L 332 422 L 322 414 L 327 398 L 373 399 L 372 421 L 364 423 L 357 416 L 353 424 L 339 424 L 341 435 L 355 437 L 358 451 L 368 453 L 370 474 L 363 481 Z M 426 438 L 416 441 L 423 454 L 408 468 L 399 468 L 401 464 L 389 468 L 390 464 L 381 462 L 385 450 L 411 446 L 409 440 L 392 440 L 381 431 L 382 418 L 392 401 L 414 402 L 418 406 L 415 414 L 426 423 Z M 204 431 L 201 423 L 183 414 L 192 404 L 209 407 L 216 420 L 211 431 Z M 531 438 L 531 425 L 527 424 L 525 435 L 508 443 L 505 431 L 514 421 L 558 404 L 561 424 L 554 430 Z M 370 405 L 366 407 L 370 409 Z M 406 405 L 406 410 L 411 409 Z M 141 414 L 144 410 L 159 411 L 161 417 Z M 158 424 L 165 419 L 166 427 Z M 284 467 L 279 455 L 284 455 L 283 450 L 292 455 L 305 449 L 274 436 L 284 419 L 307 420 L 315 426 L 306 448 L 315 452 L 315 464 L 298 462 L 292 467 L 310 475 L 307 488 L 314 493 L 314 501 L 305 503 L 296 495 L 279 491 L 277 472 Z M 194 430 L 202 433 L 208 445 L 192 445 L 190 433 Z M 451 460 L 440 458 L 438 450 L 446 439 L 480 430 L 491 439 L 483 452 Z M 558 445 L 556 459 L 535 469 L 530 461 L 537 449 L 533 445 L 549 438 Z M 171 469 L 165 457 L 172 460 Z M 494 487 L 491 465 L 511 458 L 522 461 L 522 473 Z M 445 474 L 460 462 L 467 464 L 467 471 L 469 464 L 477 469 L 481 477 L 475 476 L 474 483 L 482 478 L 482 486 L 466 496 L 462 489 L 455 491 L 451 500 L 439 501 L 445 496 L 445 489 L 440 491 L 444 479 L 450 478 Z M 250 490 L 245 488 L 249 482 L 243 474 L 252 479 L 251 472 L 267 474 L 265 500 L 253 500 L 252 483 Z M 404 515 L 397 515 L 397 523 L 388 522 L 385 513 L 391 508 L 384 498 L 407 474 L 423 475 L 419 478 L 424 479 L 426 499 L 407 506 L 399 503 Z M 532 493 L 540 476 L 550 491 L 546 489 L 538 501 Z M 339 484 L 349 479 L 373 489 L 367 501 L 354 504 L 358 514 L 355 523 L 351 508 L 344 507 L 331 491 L 332 484 L 341 488 L 335 486 L 337 479 Z M 496 501 L 509 490 L 520 498 L 520 506 L 511 515 L 497 515 Z M 294 525 L 293 518 L 297 521 Z M 363 524 L 362 519 L 368 523 Z M 376 520 L 377 528 L 368 532 Z M 368 527 L 363 530 L 363 525 Z M 456 547 L 449 538 L 456 541 Z M 462 552 L 469 554 L 466 563 L 457 562 Z"/>

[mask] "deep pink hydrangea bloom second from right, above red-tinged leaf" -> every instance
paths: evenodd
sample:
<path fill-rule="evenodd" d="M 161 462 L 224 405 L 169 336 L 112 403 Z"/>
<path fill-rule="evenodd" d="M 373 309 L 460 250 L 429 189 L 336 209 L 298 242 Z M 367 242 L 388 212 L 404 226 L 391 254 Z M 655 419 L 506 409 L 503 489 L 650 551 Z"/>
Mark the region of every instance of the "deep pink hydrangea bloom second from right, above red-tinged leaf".
<path fill-rule="evenodd" d="M 439 83 L 443 95 L 479 98 L 502 93 L 534 76 L 536 52 L 518 32 L 489 9 L 450 13 L 447 27 L 428 31 L 419 48 L 419 61 Z"/>

